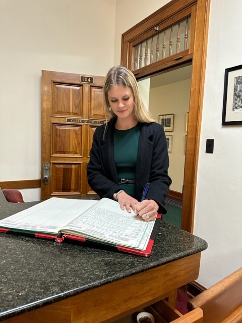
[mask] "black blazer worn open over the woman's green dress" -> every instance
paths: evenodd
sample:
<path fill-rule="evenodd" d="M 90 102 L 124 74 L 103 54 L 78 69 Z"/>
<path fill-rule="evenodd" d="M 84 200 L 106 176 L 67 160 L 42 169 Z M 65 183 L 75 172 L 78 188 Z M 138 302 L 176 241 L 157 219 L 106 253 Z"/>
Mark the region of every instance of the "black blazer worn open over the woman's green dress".
<path fill-rule="evenodd" d="M 112 198 L 121 188 L 113 155 L 113 129 L 116 119 L 97 127 L 93 135 L 90 161 L 87 166 L 88 183 L 102 198 Z M 171 179 L 168 176 L 169 157 L 163 126 L 156 122 L 141 123 L 139 148 L 136 165 L 134 197 L 140 201 L 146 183 L 150 183 L 147 199 L 159 204 L 159 212 L 165 214 L 165 197 L 168 194 Z"/>

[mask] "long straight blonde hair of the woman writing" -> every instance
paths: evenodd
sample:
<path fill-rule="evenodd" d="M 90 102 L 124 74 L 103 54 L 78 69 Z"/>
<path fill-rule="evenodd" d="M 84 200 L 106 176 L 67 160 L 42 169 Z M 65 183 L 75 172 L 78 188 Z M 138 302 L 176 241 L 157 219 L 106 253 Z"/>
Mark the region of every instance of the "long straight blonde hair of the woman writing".
<path fill-rule="evenodd" d="M 149 111 L 146 110 L 145 105 L 142 101 L 140 90 L 138 87 L 137 80 L 134 74 L 124 66 L 114 66 L 108 71 L 104 86 L 103 86 L 103 96 L 104 96 L 104 113 L 106 121 L 116 118 L 116 115 L 108 110 L 109 101 L 107 92 L 115 85 L 125 86 L 131 89 L 134 95 L 134 116 L 138 122 L 150 123 L 155 120 L 151 117 Z"/>

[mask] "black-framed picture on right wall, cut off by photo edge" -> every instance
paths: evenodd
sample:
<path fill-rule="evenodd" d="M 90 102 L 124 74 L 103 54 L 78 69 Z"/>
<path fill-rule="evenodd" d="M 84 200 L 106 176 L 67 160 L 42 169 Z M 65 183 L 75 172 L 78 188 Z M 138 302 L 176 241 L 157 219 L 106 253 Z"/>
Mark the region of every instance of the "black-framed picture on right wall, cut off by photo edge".
<path fill-rule="evenodd" d="M 222 125 L 242 124 L 242 65 L 225 69 Z"/>

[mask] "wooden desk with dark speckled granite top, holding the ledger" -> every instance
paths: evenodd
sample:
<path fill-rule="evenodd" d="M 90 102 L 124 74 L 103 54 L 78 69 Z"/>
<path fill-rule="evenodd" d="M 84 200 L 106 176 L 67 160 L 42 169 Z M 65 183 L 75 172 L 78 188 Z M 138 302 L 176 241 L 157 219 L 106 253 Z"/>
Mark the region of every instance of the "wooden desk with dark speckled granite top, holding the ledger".
<path fill-rule="evenodd" d="M 0 191 L 1 218 L 16 212 L 6 203 Z M 0 240 L 0 320 L 6 323 L 113 322 L 196 280 L 207 248 L 164 221 L 148 258 L 7 234 Z"/>

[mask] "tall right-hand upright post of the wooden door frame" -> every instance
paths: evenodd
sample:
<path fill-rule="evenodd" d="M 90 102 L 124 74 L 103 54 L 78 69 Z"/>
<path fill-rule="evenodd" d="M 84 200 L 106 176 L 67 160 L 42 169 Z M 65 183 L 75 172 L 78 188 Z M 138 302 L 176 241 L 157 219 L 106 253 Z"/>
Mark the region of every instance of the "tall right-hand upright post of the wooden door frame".
<path fill-rule="evenodd" d="M 197 188 L 200 131 L 202 123 L 204 79 L 207 55 L 210 0 L 198 0 L 194 27 L 193 72 L 186 160 L 184 171 L 183 213 L 181 229 L 193 233 Z M 195 14 L 195 13 L 194 13 Z"/>

